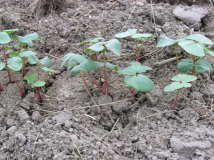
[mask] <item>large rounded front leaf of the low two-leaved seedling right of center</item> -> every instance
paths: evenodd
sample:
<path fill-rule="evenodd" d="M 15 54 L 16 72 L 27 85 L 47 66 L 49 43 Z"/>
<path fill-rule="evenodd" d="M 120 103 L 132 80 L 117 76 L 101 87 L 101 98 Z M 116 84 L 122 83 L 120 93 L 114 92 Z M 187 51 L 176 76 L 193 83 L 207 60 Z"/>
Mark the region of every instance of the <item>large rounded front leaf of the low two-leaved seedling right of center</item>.
<path fill-rule="evenodd" d="M 137 76 L 126 76 L 125 83 L 140 92 L 151 91 L 154 88 L 152 80 L 143 74 L 138 74 Z"/>

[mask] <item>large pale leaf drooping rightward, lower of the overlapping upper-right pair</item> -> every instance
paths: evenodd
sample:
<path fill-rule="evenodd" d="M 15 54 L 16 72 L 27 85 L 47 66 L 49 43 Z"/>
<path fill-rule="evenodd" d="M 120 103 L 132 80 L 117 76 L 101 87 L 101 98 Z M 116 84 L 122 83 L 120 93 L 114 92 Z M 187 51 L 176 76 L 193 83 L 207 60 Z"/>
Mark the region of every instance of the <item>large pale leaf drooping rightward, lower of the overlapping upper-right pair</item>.
<path fill-rule="evenodd" d="M 186 40 L 179 42 L 178 44 L 189 54 L 199 57 L 205 56 L 204 46 L 199 42 Z"/>

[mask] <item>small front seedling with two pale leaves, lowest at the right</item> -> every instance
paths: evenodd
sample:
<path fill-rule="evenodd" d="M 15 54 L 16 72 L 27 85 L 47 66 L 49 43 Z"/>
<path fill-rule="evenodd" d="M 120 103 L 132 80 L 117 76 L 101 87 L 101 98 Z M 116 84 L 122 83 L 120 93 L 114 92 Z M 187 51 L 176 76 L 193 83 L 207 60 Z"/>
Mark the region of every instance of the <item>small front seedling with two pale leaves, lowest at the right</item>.
<path fill-rule="evenodd" d="M 192 76 L 192 75 L 187 75 L 187 74 L 177 74 L 176 76 L 172 77 L 171 80 L 175 81 L 175 82 L 171 83 L 170 85 L 168 85 L 164 88 L 165 92 L 171 92 L 171 91 L 178 90 L 172 110 L 175 109 L 180 89 L 183 87 L 187 87 L 187 88 L 191 87 L 192 84 L 188 83 L 188 82 L 195 81 L 196 79 L 197 79 L 197 77 Z"/>

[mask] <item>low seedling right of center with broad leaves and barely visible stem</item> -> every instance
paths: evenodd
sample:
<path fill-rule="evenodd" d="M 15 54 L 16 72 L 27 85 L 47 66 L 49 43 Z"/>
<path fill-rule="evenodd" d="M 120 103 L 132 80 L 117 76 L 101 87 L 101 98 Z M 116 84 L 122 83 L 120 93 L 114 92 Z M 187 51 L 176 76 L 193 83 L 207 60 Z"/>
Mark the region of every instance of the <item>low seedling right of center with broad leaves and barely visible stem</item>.
<path fill-rule="evenodd" d="M 122 69 L 119 71 L 120 74 L 126 74 L 125 77 L 125 83 L 131 87 L 140 91 L 140 92 L 148 92 L 151 91 L 154 88 L 154 83 L 151 79 L 143 75 L 143 72 L 146 72 L 147 70 L 151 70 L 152 68 L 143 66 L 139 62 L 132 62 L 131 66 Z M 131 101 L 134 97 L 134 91 L 132 94 Z"/>

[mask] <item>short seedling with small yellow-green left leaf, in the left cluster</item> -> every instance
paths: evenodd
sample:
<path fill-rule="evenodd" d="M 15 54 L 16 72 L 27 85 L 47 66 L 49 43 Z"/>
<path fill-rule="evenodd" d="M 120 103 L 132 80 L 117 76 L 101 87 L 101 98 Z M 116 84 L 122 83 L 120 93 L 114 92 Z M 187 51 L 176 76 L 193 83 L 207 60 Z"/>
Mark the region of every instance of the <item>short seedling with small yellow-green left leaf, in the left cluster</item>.
<path fill-rule="evenodd" d="M 33 74 L 33 73 L 29 73 L 24 77 L 24 79 L 26 79 L 28 83 L 32 83 L 31 87 L 35 88 L 38 102 L 41 103 L 40 94 L 37 87 L 44 86 L 45 82 L 39 81 L 36 74 Z"/>

